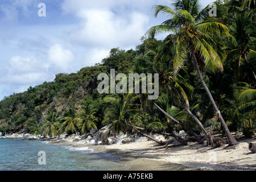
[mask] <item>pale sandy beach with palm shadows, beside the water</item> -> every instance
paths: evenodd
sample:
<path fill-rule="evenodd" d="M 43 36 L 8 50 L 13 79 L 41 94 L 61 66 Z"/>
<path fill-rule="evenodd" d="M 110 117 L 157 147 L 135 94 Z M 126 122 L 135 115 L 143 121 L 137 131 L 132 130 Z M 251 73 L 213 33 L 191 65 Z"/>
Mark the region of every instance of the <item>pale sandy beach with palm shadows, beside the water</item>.
<path fill-rule="evenodd" d="M 249 143 L 256 139 L 238 140 L 234 149 L 207 147 L 191 144 L 183 146 L 177 143 L 168 147 L 149 140 L 126 144 L 90 145 L 86 142 L 67 142 L 59 140 L 52 143 L 92 148 L 94 152 L 108 152 L 122 156 L 121 163 L 132 171 L 177 171 L 177 170 L 256 170 L 256 154 L 248 149 Z M 209 150 L 210 149 L 210 150 Z"/>

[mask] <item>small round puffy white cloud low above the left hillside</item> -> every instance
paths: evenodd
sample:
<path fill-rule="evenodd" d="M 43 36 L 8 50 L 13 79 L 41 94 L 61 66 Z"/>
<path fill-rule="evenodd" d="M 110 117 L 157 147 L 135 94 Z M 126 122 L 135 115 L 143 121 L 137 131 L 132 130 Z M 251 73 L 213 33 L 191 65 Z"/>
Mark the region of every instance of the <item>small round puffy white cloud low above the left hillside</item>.
<path fill-rule="evenodd" d="M 59 72 L 69 71 L 75 56 L 73 53 L 64 49 L 60 44 L 54 44 L 48 51 L 48 60 L 52 63 Z"/>

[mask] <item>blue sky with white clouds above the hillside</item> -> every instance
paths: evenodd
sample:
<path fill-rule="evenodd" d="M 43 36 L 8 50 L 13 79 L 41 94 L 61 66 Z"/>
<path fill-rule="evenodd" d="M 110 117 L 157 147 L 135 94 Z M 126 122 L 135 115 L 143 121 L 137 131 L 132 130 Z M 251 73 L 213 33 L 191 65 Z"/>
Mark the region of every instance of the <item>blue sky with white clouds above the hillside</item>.
<path fill-rule="evenodd" d="M 205 7 L 213 0 L 201 1 Z M 46 16 L 39 16 L 39 3 Z M 100 63 L 111 48 L 135 49 L 170 0 L 0 0 L 0 100 Z M 41 11 L 39 12 L 41 13 Z M 158 39 L 163 39 L 163 35 Z"/>

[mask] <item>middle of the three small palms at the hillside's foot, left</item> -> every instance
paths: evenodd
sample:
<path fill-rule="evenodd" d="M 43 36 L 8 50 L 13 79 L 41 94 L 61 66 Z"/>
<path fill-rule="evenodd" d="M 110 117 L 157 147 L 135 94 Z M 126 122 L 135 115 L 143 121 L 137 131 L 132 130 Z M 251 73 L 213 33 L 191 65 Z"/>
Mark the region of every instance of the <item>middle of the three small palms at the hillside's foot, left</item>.
<path fill-rule="evenodd" d="M 71 130 L 72 133 L 76 133 L 76 135 L 79 135 L 77 133 L 76 127 L 79 126 L 80 118 L 77 116 L 75 109 L 68 108 L 68 110 L 64 113 L 64 122 L 62 123 L 62 126 L 65 127 L 65 132 L 68 130 Z"/>

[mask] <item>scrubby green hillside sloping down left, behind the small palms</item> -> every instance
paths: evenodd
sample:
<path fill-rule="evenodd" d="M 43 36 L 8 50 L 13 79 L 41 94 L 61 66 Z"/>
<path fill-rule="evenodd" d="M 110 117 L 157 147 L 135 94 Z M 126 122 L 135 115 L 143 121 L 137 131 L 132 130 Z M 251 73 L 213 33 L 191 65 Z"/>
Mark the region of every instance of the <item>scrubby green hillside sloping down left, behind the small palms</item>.
<path fill-rule="evenodd" d="M 134 59 L 139 54 L 139 50 L 113 48 L 102 64 L 81 68 L 77 73 L 59 73 L 52 82 L 30 86 L 26 92 L 5 97 L 0 102 L 0 130 L 3 133 L 42 133 L 40 126 L 49 112 L 61 116 L 68 107 L 80 111 L 84 105 L 93 105 L 98 117 L 103 118 L 106 94 L 97 92 L 97 76 L 108 73 L 110 68 L 119 72 L 133 69 Z M 100 127 L 101 122 L 97 125 Z"/>

